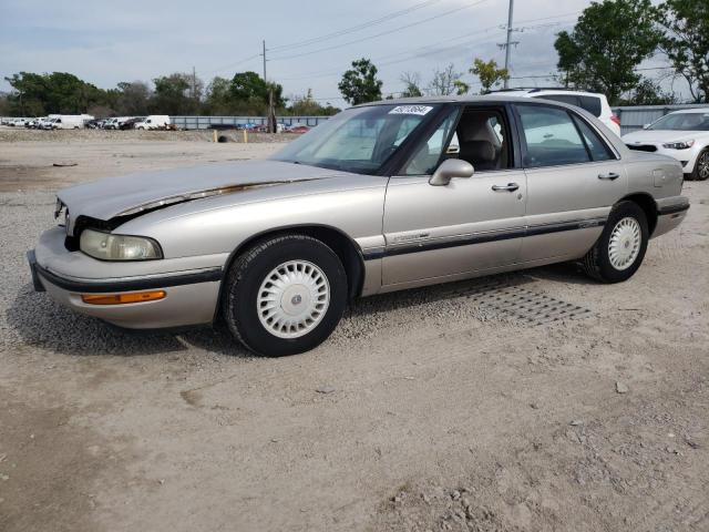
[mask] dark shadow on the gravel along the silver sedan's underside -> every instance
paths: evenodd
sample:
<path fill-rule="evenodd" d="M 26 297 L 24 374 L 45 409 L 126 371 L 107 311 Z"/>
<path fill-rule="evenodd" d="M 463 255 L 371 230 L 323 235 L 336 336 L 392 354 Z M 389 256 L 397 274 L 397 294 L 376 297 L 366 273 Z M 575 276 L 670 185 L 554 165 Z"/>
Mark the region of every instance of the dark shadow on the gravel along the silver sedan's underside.
<path fill-rule="evenodd" d="M 573 265 L 546 266 L 357 299 L 349 305 L 345 317 L 356 320 L 358 317 L 414 308 L 467 295 L 493 294 L 501 288 L 523 286 L 536 279 L 574 284 L 594 283 L 576 273 Z M 20 288 L 6 313 L 6 318 L 10 328 L 24 344 L 68 355 L 131 357 L 198 348 L 229 357 L 255 356 L 234 340 L 226 326 L 220 323 L 181 329 L 123 329 L 96 318 L 75 314 L 54 303 L 47 294 L 35 293 L 31 284 Z"/>

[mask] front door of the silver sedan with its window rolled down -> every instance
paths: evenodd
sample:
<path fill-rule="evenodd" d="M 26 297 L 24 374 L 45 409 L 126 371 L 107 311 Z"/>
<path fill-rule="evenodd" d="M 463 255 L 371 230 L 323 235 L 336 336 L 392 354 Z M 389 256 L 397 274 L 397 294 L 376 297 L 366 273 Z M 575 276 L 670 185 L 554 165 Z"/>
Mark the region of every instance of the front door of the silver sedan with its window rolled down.
<path fill-rule="evenodd" d="M 515 167 L 503 106 L 471 106 L 445 117 L 389 181 L 384 204 L 384 286 L 436 280 L 518 260 L 526 175 Z M 470 178 L 433 186 L 450 157 L 470 162 Z M 442 279 L 441 279 L 442 280 Z"/>

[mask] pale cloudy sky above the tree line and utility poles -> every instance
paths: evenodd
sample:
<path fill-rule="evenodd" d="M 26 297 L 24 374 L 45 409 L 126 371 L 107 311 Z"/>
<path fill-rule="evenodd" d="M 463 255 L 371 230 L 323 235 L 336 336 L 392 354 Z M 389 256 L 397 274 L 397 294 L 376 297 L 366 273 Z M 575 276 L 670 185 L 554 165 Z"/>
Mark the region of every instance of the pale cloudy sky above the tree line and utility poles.
<path fill-rule="evenodd" d="M 556 70 L 555 34 L 571 30 L 589 3 L 516 0 L 512 86 L 555 84 L 544 78 Z M 62 71 L 110 89 L 194 68 L 206 85 L 215 75 L 263 73 L 265 40 L 267 78 L 286 96 L 311 89 L 321 103 L 345 105 L 337 84 L 359 58 L 378 66 L 384 94 L 403 89 L 403 72 L 425 85 L 449 63 L 476 92 L 467 69 L 474 57 L 503 64 L 507 7 L 508 0 L 0 0 L 0 76 Z M 0 82 L 0 91 L 9 89 Z"/>

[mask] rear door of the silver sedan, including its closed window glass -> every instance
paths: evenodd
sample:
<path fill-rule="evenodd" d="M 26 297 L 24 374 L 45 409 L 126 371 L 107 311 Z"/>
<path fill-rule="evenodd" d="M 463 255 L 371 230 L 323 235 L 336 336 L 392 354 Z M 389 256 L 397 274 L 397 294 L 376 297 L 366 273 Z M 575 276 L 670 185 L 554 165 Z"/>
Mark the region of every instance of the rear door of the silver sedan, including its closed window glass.
<path fill-rule="evenodd" d="M 624 165 L 589 121 L 543 103 L 515 104 L 527 176 L 521 259 L 584 255 L 627 191 Z"/>

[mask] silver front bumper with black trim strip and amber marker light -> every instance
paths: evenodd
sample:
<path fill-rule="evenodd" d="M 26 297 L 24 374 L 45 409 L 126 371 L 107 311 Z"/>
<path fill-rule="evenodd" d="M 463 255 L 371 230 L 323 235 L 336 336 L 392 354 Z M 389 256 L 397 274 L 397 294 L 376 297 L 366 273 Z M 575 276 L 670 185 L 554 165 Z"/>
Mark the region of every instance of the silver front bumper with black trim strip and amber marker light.
<path fill-rule="evenodd" d="M 121 327 L 151 329 L 210 323 L 226 255 L 145 262 L 150 264 L 107 263 L 66 250 L 64 233 L 55 228 L 40 237 L 37 248 L 28 253 L 28 260 L 34 289 L 45 290 L 59 304 Z M 70 270 L 82 276 L 70 275 Z M 129 275 L 116 276 L 120 270 Z M 142 274 L 131 275 L 136 272 Z M 92 305 L 81 297 L 148 289 L 161 289 L 166 295 L 158 300 L 121 305 Z"/>

